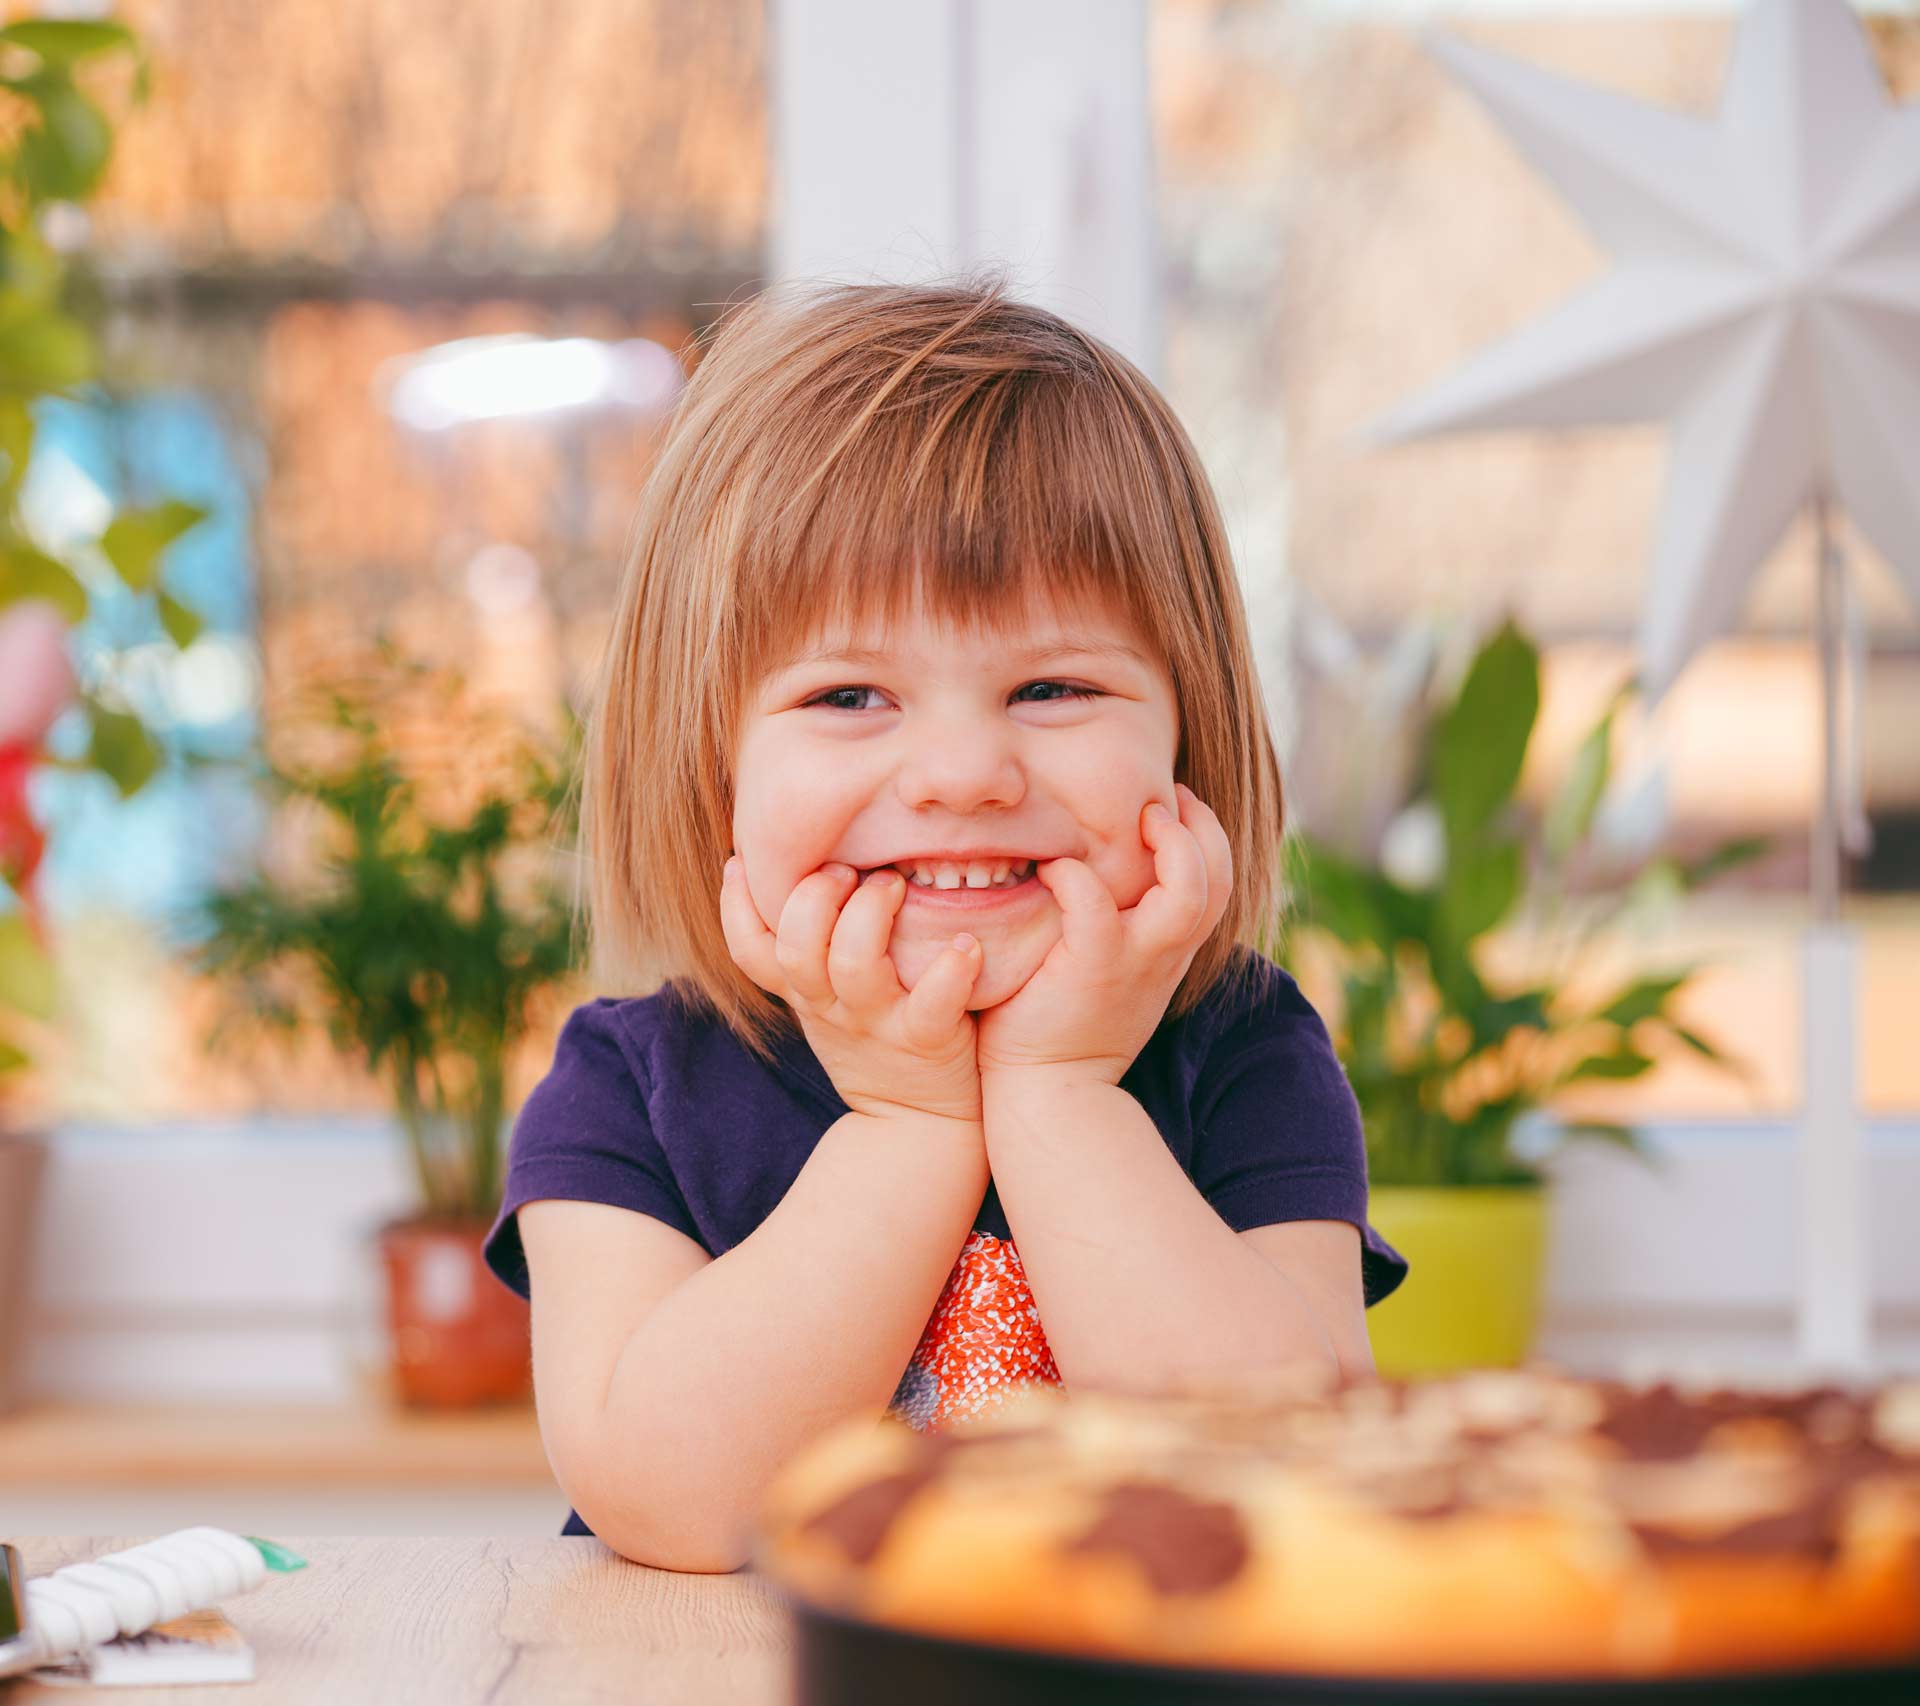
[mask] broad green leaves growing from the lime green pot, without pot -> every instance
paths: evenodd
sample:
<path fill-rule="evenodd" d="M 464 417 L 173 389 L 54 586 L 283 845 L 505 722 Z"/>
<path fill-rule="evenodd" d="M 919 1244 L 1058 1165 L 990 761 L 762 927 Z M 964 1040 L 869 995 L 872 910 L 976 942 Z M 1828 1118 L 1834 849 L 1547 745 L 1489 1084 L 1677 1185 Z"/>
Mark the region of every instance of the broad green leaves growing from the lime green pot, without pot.
<path fill-rule="evenodd" d="M 1574 894 L 1571 865 L 1588 850 L 1613 770 L 1622 685 L 1586 731 L 1544 812 L 1519 800 L 1540 710 L 1540 652 L 1511 622 L 1490 635 L 1450 702 L 1427 718 L 1425 764 L 1405 821 L 1428 829 L 1430 869 L 1396 881 L 1379 858 L 1309 835 L 1288 841 L 1290 917 L 1277 958 L 1304 971 L 1319 954 L 1338 981 L 1329 1029 L 1359 1100 L 1377 1186 L 1536 1184 L 1513 1149 L 1515 1123 L 1551 1109 L 1572 1086 L 1649 1073 L 1670 1054 L 1741 1071 L 1674 1017 L 1697 965 L 1636 977 L 1597 998 L 1571 994 L 1582 961 L 1622 913 L 1684 894 L 1745 864 L 1763 839 L 1705 858 L 1636 860 Z M 1480 944 L 1521 919 L 1548 946 L 1551 971 L 1500 983 Z M 1605 1121 L 1551 1125 L 1557 1140 L 1619 1144 L 1651 1159 L 1638 1132 Z"/>

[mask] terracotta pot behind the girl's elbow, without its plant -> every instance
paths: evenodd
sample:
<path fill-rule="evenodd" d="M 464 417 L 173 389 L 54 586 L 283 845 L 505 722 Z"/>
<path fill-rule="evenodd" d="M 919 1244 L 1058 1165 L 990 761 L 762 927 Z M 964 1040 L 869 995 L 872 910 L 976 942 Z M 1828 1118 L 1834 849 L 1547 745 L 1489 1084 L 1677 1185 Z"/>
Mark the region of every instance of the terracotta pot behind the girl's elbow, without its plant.
<path fill-rule="evenodd" d="M 394 1220 L 380 1228 L 394 1391 L 407 1405 L 455 1407 L 532 1391 L 526 1301 L 480 1257 L 486 1220 Z"/>

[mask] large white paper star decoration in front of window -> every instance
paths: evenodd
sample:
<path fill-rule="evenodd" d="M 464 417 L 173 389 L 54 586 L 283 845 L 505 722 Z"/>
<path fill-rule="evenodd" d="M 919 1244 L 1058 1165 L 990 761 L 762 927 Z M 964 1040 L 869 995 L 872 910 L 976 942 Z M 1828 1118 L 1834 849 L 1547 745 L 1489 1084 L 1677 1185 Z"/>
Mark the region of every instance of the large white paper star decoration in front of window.
<path fill-rule="evenodd" d="M 1920 104 L 1847 0 L 1757 0 L 1715 119 L 1427 42 L 1617 265 L 1367 436 L 1670 418 L 1649 700 L 1816 495 L 1920 604 Z"/>

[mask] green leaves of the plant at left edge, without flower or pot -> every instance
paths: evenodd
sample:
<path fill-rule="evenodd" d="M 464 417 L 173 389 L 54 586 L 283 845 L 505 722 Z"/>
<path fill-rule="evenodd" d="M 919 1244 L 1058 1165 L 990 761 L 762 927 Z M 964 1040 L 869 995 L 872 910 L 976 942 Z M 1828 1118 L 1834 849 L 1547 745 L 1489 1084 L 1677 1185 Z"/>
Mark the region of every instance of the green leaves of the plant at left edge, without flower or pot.
<path fill-rule="evenodd" d="M 0 608 L 44 599 L 69 628 L 92 608 L 84 568 L 94 560 L 125 589 L 150 599 L 177 647 L 192 645 L 200 618 L 161 580 L 167 547 L 204 518 L 179 501 L 123 507 L 96 541 L 56 555 L 36 541 L 21 512 L 35 459 L 35 403 L 88 399 L 100 384 L 94 315 L 81 267 L 50 242 L 61 213 L 92 196 L 113 157 L 113 121 L 94 98 L 100 71 L 131 67 L 125 100 L 148 98 L 150 73 L 138 38 L 111 19 L 27 17 L 0 27 Z M 77 560 L 84 557 L 83 572 Z M 90 735 L 79 758 L 38 752 L 35 762 L 100 771 L 121 796 L 138 793 L 161 764 L 161 746 L 109 679 L 81 681 Z M 31 1063 L 29 1023 L 52 1019 L 54 963 L 31 892 L 13 892 L 0 915 L 0 1075 Z"/>

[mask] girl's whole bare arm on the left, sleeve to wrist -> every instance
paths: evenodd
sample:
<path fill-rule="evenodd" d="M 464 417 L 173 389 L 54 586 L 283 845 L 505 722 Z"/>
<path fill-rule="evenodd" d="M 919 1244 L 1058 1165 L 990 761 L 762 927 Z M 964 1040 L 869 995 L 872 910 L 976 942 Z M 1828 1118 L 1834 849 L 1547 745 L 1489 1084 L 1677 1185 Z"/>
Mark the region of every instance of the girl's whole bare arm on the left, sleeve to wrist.
<path fill-rule="evenodd" d="M 626 1209 L 522 1207 L 541 1434 L 588 1526 L 641 1564 L 741 1568 L 774 1472 L 833 1422 L 879 1418 L 985 1192 L 979 1125 L 902 1111 L 835 1121 L 712 1261 Z M 632 1220 L 651 1288 L 611 1259 Z"/>

